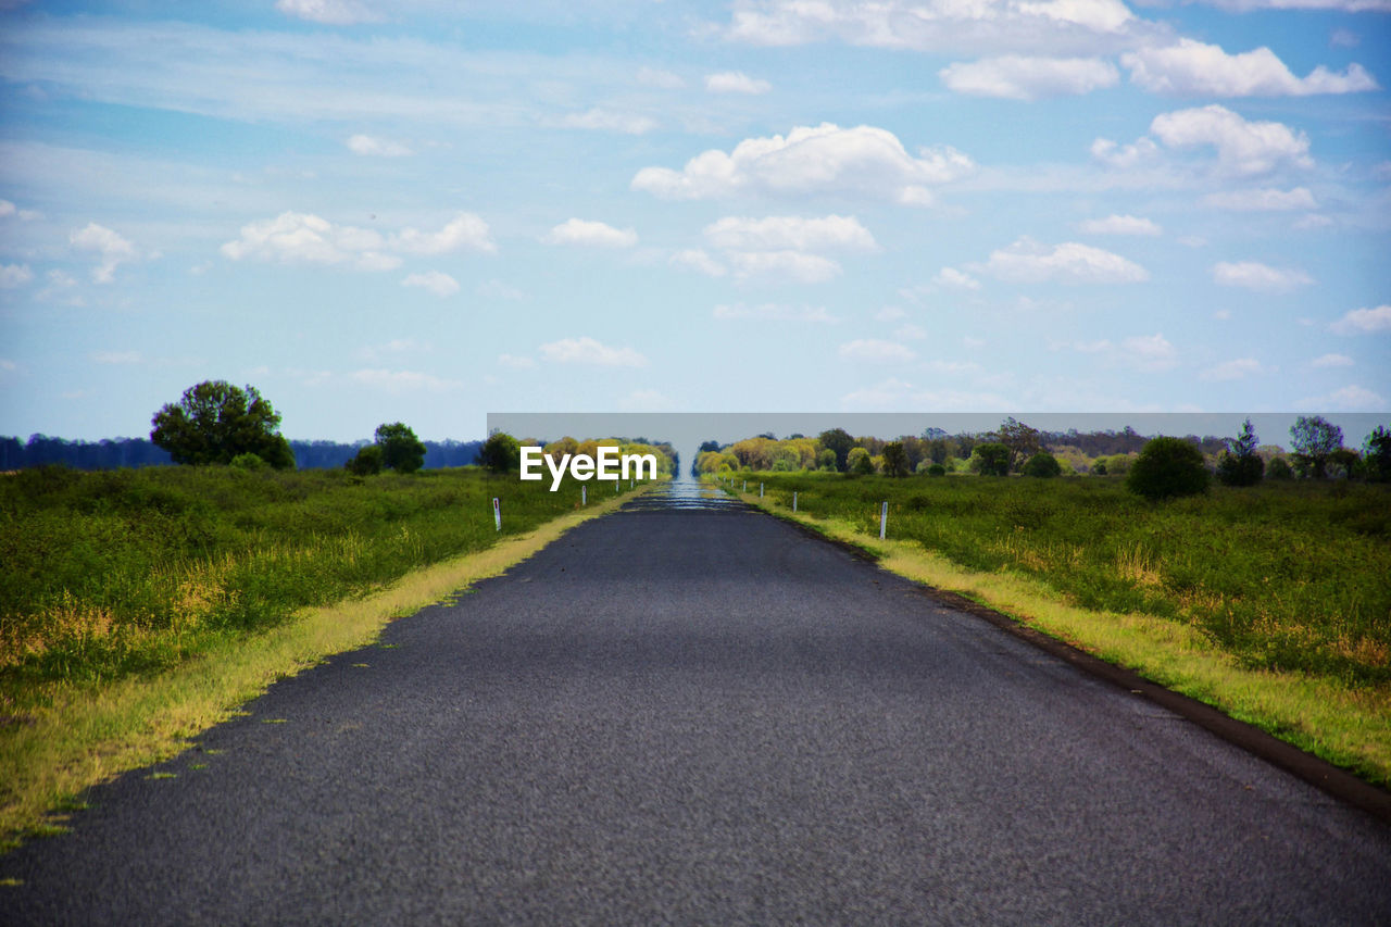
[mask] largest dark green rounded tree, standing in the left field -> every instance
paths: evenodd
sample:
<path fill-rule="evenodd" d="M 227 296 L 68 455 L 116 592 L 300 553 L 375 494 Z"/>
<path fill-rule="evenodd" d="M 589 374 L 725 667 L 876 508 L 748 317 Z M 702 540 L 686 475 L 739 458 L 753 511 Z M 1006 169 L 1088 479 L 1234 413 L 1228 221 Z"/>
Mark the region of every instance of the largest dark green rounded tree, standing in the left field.
<path fill-rule="evenodd" d="M 231 464 L 255 454 L 277 470 L 294 469 L 295 454 L 277 433 L 280 413 L 256 391 L 225 380 L 204 380 L 167 402 L 150 420 L 150 441 L 168 451 L 175 464 Z"/>

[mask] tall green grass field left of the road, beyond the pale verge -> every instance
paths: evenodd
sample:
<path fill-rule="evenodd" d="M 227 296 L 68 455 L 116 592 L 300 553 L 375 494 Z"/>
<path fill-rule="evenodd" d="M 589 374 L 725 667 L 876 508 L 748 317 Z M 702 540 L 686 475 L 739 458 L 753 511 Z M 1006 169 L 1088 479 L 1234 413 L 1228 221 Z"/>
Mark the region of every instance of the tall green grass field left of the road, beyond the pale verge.
<path fill-rule="evenodd" d="M 61 468 L 0 477 L 0 715 L 164 670 L 296 611 L 572 511 L 579 490 L 473 468 L 351 477 Z M 591 494 L 597 487 L 590 487 Z M 625 487 L 626 490 L 626 487 Z"/>

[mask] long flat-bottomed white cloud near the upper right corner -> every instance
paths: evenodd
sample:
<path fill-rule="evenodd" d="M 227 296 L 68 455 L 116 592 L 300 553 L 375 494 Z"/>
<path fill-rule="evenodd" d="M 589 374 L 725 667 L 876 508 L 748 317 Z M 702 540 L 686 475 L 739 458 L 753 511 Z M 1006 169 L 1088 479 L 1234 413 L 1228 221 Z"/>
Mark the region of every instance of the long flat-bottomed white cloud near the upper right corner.
<path fill-rule="evenodd" d="M 1121 64 L 1129 70 L 1131 82 L 1171 96 L 1309 96 L 1377 89 L 1360 64 L 1349 64 L 1342 74 L 1319 65 L 1296 78 L 1270 49 L 1227 54 L 1221 46 L 1193 39 L 1127 52 Z"/>

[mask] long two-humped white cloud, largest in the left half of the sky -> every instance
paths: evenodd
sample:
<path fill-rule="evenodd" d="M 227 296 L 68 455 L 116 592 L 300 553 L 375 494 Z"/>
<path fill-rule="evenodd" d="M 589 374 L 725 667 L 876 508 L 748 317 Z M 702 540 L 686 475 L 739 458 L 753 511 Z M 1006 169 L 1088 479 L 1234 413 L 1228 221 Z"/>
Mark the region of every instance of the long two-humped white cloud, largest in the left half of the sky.
<path fill-rule="evenodd" d="M 388 238 L 371 228 L 338 225 L 312 213 L 285 212 L 275 219 L 242 225 L 241 237 L 224 244 L 221 252 L 231 260 L 381 271 L 401 266 L 398 253 L 442 255 L 463 249 L 495 251 L 488 238 L 488 224 L 472 213 L 459 213 L 437 232 L 406 227 Z"/>

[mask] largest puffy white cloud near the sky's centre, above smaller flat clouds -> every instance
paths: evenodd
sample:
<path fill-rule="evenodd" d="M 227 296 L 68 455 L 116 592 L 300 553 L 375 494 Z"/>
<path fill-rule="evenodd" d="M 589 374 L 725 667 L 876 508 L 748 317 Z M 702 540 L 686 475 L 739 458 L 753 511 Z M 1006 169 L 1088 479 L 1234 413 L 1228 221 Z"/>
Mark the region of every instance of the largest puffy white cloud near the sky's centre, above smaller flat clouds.
<path fill-rule="evenodd" d="M 797 127 L 786 136 L 744 139 L 727 154 L 702 152 L 680 171 L 644 167 L 632 188 L 664 199 L 851 193 L 925 206 L 932 202 L 928 185 L 964 177 L 974 167 L 953 148 L 919 149 L 914 157 L 886 129 L 822 122 Z"/>

